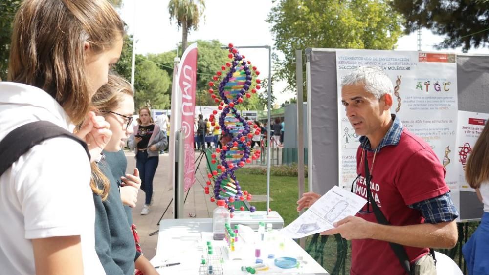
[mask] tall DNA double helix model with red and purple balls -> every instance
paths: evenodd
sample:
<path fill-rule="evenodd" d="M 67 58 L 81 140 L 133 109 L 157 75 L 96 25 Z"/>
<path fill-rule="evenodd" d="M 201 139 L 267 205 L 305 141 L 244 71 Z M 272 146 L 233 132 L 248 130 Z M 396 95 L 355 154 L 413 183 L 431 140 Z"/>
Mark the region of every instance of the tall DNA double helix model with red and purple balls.
<path fill-rule="evenodd" d="M 261 81 L 257 78 L 260 72 L 250 61 L 244 59 L 244 55 L 232 43 L 229 43 L 228 49 L 231 61 L 223 65 L 221 71 L 213 76 L 213 81 L 209 82 L 209 94 L 219 104 L 218 110 L 221 111 L 218 114 L 218 110 L 214 110 L 209 121 L 213 127 L 222 131 L 222 148 L 216 148 L 216 153 L 211 155 L 211 163 L 218 165 L 217 169 L 207 175 L 209 180 L 204 192 L 210 193 L 209 187 L 212 185 L 211 181 L 214 181 L 214 194 L 210 200 L 225 200 L 232 217 L 235 211 L 234 202 L 252 199 L 250 193 L 242 190 L 234 172 L 260 157 L 260 150 L 250 147 L 251 138 L 253 135 L 260 135 L 260 128 L 253 121 L 246 121 L 236 106 L 243 103 L 244 97 L 250 98 L 252 94 L 256 94 Z M 240 210 L 244 211 L 244 206 Z M 249 207 L 250 212 L 255 210 L 254 206 Z"/>

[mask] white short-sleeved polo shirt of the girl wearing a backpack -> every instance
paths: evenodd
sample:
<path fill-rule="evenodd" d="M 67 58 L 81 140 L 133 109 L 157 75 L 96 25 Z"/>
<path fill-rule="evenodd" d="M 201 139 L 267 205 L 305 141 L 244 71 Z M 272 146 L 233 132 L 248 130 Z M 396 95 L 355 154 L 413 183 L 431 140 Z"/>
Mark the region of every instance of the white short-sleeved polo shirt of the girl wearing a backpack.
<path fill-rule="evenodd" d="M 43 90 L 0 82 L 0 140 L 37 120 L 70 127 L 63 108 Z M 1 175 L 1 274 L 35 274 L 31 239 L 71 235 L 81 236 L 85 274 L 105 274 L 95 252 L 89 180 L 85 150 L 64 137 L 31 148 Z"/>

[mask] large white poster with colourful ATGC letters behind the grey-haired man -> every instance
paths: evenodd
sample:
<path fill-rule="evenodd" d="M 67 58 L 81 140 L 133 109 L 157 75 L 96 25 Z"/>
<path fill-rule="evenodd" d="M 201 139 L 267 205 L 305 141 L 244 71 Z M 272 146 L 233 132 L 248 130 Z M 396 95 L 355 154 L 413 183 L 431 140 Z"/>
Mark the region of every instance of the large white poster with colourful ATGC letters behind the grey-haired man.
<path fill-rule="evenodd" d="M 341 81 L 360 66 L 381 68 L 394 85 L 392 114 L 403 127 L 422 137 L 443 165 L 450 164 L 455 150 L 457 127 L 457 64 L 455 54 L 417 51 L 336 50 L 337 96 Z M 338 104 L 339 185 L 350 190 L 356 173 L 358 136 Z M 445 180 L 451 190 L 458 189 L 458 174 L 447 169 Z"/>

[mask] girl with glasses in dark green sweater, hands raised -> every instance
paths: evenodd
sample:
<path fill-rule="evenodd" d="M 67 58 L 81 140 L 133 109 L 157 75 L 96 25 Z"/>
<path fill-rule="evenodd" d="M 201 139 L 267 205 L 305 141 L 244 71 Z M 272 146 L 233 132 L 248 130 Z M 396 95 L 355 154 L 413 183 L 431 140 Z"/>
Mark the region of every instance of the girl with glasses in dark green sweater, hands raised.
<path fill-rule="evenodd" d="M 134 268 L 145 275 L 157 274 L 148 259 L 136 252 L 128 209 L 135 206 L 141 184 L 137 169 L 125 174 L 127 159 L 122 151 L 133 133 L 129 127 L 134 112 L 131 85 L 121 77 L 109 75 L 109 82 L 93 96 L 91 108 L 105 117 L 112 131 L 100 159 L 92 164 L 91 180 L 100 190 L 93 194 L 95 250 L 107 274 L 133 275 Z"/>

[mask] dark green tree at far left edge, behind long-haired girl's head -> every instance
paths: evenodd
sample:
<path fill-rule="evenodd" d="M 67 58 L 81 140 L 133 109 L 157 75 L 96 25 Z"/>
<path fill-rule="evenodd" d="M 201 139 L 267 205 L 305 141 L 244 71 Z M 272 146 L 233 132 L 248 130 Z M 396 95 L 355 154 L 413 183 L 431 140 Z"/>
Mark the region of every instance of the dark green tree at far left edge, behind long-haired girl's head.
<path fill-rule="evenodd" d="M 0 81 L 7 79 L 12 22 L 14 21 L 15 13 L 19 8 L 20 2 L 20 0 L 0 1 Z"/>

